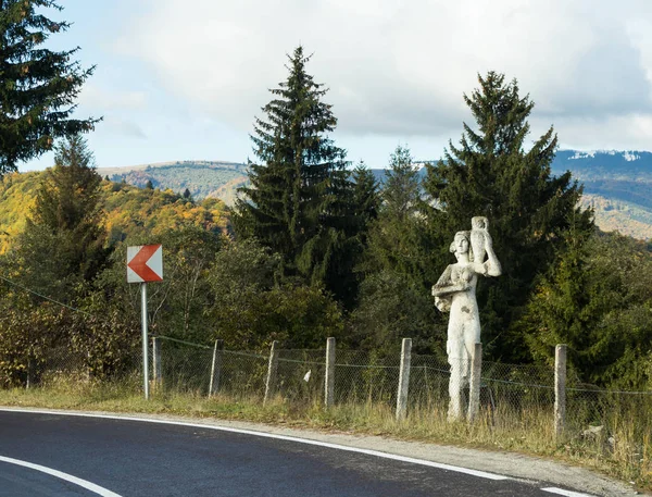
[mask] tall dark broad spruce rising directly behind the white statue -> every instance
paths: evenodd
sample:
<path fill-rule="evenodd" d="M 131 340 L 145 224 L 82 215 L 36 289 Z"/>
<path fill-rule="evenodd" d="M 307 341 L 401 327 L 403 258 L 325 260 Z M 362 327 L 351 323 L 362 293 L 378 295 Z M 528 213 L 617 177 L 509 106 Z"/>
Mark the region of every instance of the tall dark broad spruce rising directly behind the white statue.
<path fill-rule="evenodd" d="M 519 361 L 528 355 L 511 326 L 537 276 L 563 246 L 568 220 L 589 228 L 592 212 L 577 207 L 581 187 L 569 172 L 551 174 L 557 147 L 552 127 L 525 149 L 534 102 L 519 95 L 517 82 L 505 84 L 504 75 L 494 72 L 478 76 L 478 89 L 464 95 L 476 126 L 464 123 L 460 145 L 450 142 L 443 160 L 427 170 L 425 189 L 438 201 L 428 209 L 439 247 L 434 264 L 441 271 L 450 263 L 449 244 L 455 232 L 471 228 L 473 216 L 489 219 L 504 274 L 478 285 L 482 341 L 490 358 Z"/>

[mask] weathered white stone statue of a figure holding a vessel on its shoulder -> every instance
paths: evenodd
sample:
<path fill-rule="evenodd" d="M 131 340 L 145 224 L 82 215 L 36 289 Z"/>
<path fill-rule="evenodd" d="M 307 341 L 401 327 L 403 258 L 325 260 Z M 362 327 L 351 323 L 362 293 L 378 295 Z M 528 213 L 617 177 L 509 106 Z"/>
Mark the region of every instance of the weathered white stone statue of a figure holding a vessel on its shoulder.
<path fill-rule="evenodd" d="M 451 313 L 446 343 L 451 364 L 450 421 L 460 420 L 464 415 L 462 389 L 468 384 L 475 344 L 480 341 L 480 316 L 476 300 L 478 274 L 500 276 L 502 273 L 493 252 L 487 218 L 473 218 L 472 227 L 471 232 L 455 234 L 450 251 L 455 254 L 457 262 L 450 264 L 432 286 L 437 309 Z"/>

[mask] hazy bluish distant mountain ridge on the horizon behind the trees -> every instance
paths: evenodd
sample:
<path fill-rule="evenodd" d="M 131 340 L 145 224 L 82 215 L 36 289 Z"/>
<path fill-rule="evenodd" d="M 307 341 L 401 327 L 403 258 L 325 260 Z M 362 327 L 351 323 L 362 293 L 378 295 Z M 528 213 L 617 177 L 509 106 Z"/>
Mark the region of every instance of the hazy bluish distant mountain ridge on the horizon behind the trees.
<path fill-rule="evenodd" d="M 417 161 L 424 164 L 428 161 Z M 604 231 L 640 239 L 652 239 L 652 152 L 639 150 L 560 150 L 552 165 L 555 175 L 570 171 L 585 186 L 582 203 L 595 209 L 598 225 Z M 238 187 L 248 184 L 247 164 L 228 161 L 172 161 L 127 167 L 100 167 L 113 182 L 184 192 L 197 200 L 218 198 L 233 206 Z M 386 170 L 374 169 L 383 182 Z M 425 169 L 422 169 L 425 174 Z"/>

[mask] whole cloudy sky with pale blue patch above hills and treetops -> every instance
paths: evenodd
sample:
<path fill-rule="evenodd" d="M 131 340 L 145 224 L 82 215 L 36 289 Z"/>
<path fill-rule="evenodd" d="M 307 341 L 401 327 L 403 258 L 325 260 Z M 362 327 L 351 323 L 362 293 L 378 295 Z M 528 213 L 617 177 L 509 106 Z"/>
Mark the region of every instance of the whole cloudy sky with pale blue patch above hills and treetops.
<path fill-rule="evenodd" d="M 254 116 L 302 45 L 328 88 L 334 138 L 380 167 L 397 145 L 439 158 L 493 70 L 536 102 L 562 148 L 652 149 L 650 0 L 61 0 L 49 47 L 97 65 L 79 116 L 98 166 L 253 159 Z M 21 171 L 51 165 L 51 154 Z"/>

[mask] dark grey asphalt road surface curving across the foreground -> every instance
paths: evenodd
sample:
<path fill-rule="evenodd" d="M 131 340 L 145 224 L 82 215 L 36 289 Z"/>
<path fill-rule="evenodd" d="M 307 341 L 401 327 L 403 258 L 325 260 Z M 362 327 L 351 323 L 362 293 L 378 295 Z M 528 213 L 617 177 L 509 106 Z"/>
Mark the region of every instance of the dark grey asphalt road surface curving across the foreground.
<path fill-rule="evenodd" d="M 579 495 L 543 487 L 209 426 L 0 412 L 0 496 L 7 497 Z"/>

